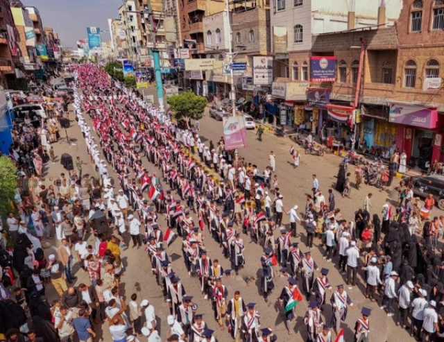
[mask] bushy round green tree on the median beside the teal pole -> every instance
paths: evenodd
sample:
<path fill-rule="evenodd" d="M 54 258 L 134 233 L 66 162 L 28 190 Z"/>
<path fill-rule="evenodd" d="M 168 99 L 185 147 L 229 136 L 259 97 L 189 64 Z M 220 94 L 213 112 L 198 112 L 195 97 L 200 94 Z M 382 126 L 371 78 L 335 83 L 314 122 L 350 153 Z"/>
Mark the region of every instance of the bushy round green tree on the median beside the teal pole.
<path fill-rule="evenodd" d="M 203 117 L 203 112 L 207 106 L 207 99 L 198 96 L 194 92 L 182 92 L 178 95 L 170 96 L 167 103 L 173 110 L 176 120 L 194 119 Z"/>

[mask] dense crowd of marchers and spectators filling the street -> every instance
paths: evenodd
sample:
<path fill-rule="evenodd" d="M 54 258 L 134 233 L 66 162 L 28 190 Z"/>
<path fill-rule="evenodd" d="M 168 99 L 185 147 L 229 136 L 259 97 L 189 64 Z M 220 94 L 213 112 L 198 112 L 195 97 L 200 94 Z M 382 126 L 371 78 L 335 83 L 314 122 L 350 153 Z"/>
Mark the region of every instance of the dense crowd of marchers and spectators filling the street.
<path fill-rule="evenodd" d="M 340 341 L 341 325 L 353 306 L 348 291 L 362 282 L 366 298 L 377 301 L 416 339 L 444 341 L 444 255 L 438 253 L 444 217 L 430 220 L 428 212 L 415 210 L 409 185 L 401 185 L 400 203 L 388 199 L 382 208 L 373 207 L 368 194 L 347 221 L 334 191 L 324 196 L 313 174 L 305 207 L 288 208 L 273 151 L 261 172 L 225 151 L 223 139 L 205 144 L 97 67 L 78 67 L 76 78 L 76 120 L 99 178 L 85 174 L 80 160 L 48 189 L 38 163 L 30 177 L 24 175 L 28 181 L 22 189 L 30 195 L 17 195 L 19 216 L 10 214 L 7 220 L 14 247 L 1 250 L 0 315 L 17 312 L 15 321 L 0 319 L 5 341 L 74 341 L 74 336 L 95 341 L 104 322 L 113 342 L 161 341 L 155 307 L 136 293 L 127 302 L 119 287 L 125 272 L 122 250 L 141 247 L 157 291 L 169 305 L 168 341 L 213 342 L 214 325 L 228 327 L 235 341 L 275 341 L 273 327 L 261 326 L 255 303 L 246 302 L 240 291 L 228 293 L 224 284 L 246 264 L 246 238 L 264 250 L 257 265 L 248 267 L 260 268 L 259 294 L 265 301 L 275 290 L 276 275 L 287 277 L 275 305 L 289 334 L 299 302 L 307 300 L 302 336 Z M 36 137 L 24 137 L 14 147 L 17 163 L 40 146 Z M 146 162 L 159 171 L 148 171 Z M 341 168 L 347 174 L 346 163 Z M 101 215 L 110 228 L 92 225 Z M 160 224 L 163 215 L 166 228 Z M 45 257 L 42 241 L 53 232 L 58 246 Z M 209 238 L 220 246 L 230 269 L 212 257 L 205 246 Z M 200 314 L 173 270 L 169 246 L 177 239 L 188 275 L 211 303 L 215 323 Z M 325 262 L 337 263 L 345 284 L 330 284 L 329 268 L 318 268 L 311 257 L 315 242 Z M 75 285 L 74 268 L 87 273 L 87 284 Z M 45 299 L 48 284 L 56 290 L 51 304 Z M 370 341 L 370 311 L 361 309 L 355 341 Z"/>

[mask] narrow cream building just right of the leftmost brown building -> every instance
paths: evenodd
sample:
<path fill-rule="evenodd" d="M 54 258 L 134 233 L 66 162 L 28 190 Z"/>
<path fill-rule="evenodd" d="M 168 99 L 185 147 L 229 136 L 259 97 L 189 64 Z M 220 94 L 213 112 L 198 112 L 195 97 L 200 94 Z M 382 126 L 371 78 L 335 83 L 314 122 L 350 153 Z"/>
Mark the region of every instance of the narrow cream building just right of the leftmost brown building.
<path fill-rule="evenodd" d="M 32 73 L 40 69 L 40 58 L 37 57 L 35 49 L 33 21 L 21 1 L 11 1 L 10 4 L 15 27 L 20 36 L 19 47 L 23 58 L 23 67 L 25 71 Z"/>

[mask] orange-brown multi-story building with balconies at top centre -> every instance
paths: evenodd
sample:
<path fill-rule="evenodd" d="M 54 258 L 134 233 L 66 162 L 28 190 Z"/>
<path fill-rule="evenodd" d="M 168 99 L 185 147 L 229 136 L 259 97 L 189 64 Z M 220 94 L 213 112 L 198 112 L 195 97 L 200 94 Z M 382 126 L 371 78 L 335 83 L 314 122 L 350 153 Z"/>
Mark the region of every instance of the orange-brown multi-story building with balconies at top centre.
<path fill-rule="evenodd" d="M 205 58 L 203 18 L 225 10 L 223 0 L 180 0 L 181 44 L 189 48 L 193 58 Z"/>

